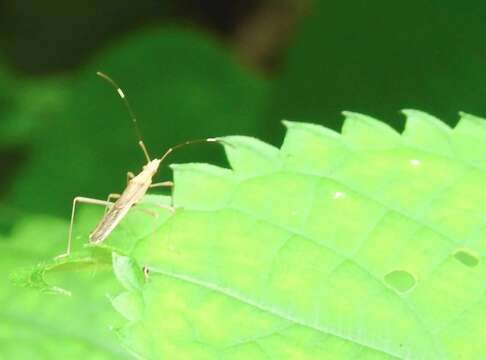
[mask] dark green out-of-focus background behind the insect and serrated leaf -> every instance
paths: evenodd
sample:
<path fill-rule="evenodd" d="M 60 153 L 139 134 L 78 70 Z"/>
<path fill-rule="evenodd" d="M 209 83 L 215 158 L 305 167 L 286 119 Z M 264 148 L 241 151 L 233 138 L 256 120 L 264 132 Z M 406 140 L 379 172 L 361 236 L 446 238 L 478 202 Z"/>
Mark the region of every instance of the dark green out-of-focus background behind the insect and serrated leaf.
<path fill-rule="evenodd" d="M 56 251 L 26 217 L 60 221 L 65 238 L 74 196 L 119 192 L 144 164 L 96 71 L 123 87 L 153 156 L 208 136 L 279 145 L 282 119 L 339 129 L 342 110 L 399 130 L 403 108 L 454 125 L 460 110 L 486 115 L 485 15 L 452 0 L 0 0 L 2 269 L 22 263 L 19 248 Z M 225 164 L 207 145 L 170 160 L 187 161 Z M 19 291 L 0 286 L 2 299 Z"/>

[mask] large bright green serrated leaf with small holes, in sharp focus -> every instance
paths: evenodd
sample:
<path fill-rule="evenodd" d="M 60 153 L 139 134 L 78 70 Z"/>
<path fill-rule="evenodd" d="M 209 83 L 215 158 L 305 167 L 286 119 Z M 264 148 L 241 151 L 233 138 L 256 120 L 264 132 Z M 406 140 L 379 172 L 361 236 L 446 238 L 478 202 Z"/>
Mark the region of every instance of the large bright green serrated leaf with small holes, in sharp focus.
<path fill-rule="evenodd" d="M 175 166 L 179 208 L 133 252 L 149 279 L 114 301 L 124 345 L 147 359 L 486 358 L 486 122 L 406 114 L 402 135 L 346 113 L 342 135 L 286 123 L 281 149 L 229 137 L 232 170 Z"/>

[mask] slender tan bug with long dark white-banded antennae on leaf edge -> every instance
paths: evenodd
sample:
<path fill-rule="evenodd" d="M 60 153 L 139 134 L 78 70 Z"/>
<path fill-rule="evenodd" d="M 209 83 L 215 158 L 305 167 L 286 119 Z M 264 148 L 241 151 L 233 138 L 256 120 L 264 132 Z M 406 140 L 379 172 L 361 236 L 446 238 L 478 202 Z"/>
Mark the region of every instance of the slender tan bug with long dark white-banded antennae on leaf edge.
<path fill-rule="evenodd" d="M 142 171 L 138 175 L 134 175 L 131 172 L 127 173 L 127 186 L 125 190 L 121 194 L 110 194 L 108 195 L 107 200 L 99 200 L 99 199 L 92 199 L 82 196 L 77 196 L 73 200 L 73 207 L 71 210 L 71 221 L 69 224 L 69 235 L 68 235 L 68 243 L 66 252 L 57 256 L 56 258 L 62 258 L 69 256 L 71 254 L 71 245 L 72 245 L 72 234 L 73 234 L 73 225 L 74 225 L 74 215 L 76 213 L 76 204 L 85 203 L 85 204 L 94 204 L 94 205 L 102 205 L 105 206 L 107 211 L 105 215 L 100 220 L 98 225 L 94 228 L 94 230 L 89 234 L 89 242 L 90 244 L 96 245 L 101 244 L 116 228 L 116 226 L 120 223 L 120 221 L 125 217 L 128 213 L 130 208 L 135 206 L 145 195 L 149 188 L 154 187 L 162 187 L 167 186 L 171 187 L 173 184 L 171 181 L 164 181 L 159 183 L 152 183 L 152 178 L 157 173 L 160 164 L 165 160 L 167 156 L 169 156 L 172 151 L 177 148 L 195 144 L 195 143 L 202 143 L 202 142 L 220 142 L 223 143 L 222 139 L 219 138 L 207 138 L 207 139 L 197 139 L 197 140 L 190 140 L 185 141 L 183 143 L 177 144 L 175 146 L 170 147 L 159 159 L 151 159 L 147 148 L 142 140 L 141 132 L 137 126 L 137 118 L 128 102 L 124 92 L 118 86 L 118 84 L 110 78 L 108 75 L 97 72 L 98 76 L 106 80 L 108 83 L 111 84 L 123 100 L 123 103 L 128 110 L 128 113 L 131 117 L 131 120 L 134 124 L 137 136 L 138 136 L 138 145 L 141 147 L 144 156 L 147 160 L 147 164 L 143 166 Z M 115 200 L 112 202 L 112 200 Z M 159 205 L 162 208 L 168 208 L 171 211 L 174 211 L 174 207 L 168 205 Z"/>

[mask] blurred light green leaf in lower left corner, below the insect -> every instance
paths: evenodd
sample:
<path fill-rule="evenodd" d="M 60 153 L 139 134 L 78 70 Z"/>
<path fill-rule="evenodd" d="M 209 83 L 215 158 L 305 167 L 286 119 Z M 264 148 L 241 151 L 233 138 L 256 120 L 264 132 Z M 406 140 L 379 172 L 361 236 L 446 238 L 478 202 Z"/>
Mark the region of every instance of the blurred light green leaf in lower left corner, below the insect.
<path fill-rule="evenodd" d="M 4 213 L 7 211 L 2 210 L 2 217 Z M 113 274 L 106 271 L 110 268 L 69 264 L 74 259 L 46 260 L 64 249 L 67 227 L 65 221 L 52 217 L 24 216 L 22 221 L 17 219 L 10 234 L 0 235 L 0 271 L 4 274 L 0 282 L 0 358 L 130 358 L 110 330 L 122 321 L 106 296 L 121 290 Z M 19 274 L 17 270 L 16 277 L 40 292 L 8 281 L 12 270 L 41 260 L 45 266 L 39 265 L 34 273 Z M 46 294 L 66 294 L 63 289 L 72 296 Z"/>

